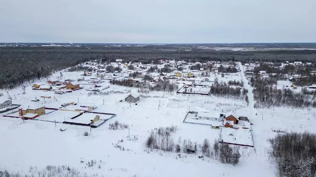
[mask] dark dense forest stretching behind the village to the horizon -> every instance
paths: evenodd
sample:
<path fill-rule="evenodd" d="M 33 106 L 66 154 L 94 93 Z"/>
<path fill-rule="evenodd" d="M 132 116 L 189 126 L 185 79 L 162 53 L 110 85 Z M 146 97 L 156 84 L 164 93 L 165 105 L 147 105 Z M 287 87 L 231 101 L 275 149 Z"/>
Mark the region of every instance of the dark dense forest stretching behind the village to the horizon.
<path fill-rule="evenodd" d="M 123 59 L 123 62 L 159 63 L 159 60 L 313 62 L 315 50 L 216 51 L 198 45 L 106 46 L 87 44 L 81 47 L 0 47 L 0 88 L 14 88 L 25 81 L 35 81 L 53 72 L 88 60 Z"/>

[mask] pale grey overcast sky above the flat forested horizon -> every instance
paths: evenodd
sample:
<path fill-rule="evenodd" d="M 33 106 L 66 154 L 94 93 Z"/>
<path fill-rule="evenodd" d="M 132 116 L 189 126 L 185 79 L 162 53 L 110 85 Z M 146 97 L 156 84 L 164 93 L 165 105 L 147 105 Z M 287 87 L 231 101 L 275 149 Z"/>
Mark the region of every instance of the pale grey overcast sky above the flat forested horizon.
<path fill-rule="evenodd" d="M 316 42 L 316 0 L 0 0 L 0 42 Z"/>

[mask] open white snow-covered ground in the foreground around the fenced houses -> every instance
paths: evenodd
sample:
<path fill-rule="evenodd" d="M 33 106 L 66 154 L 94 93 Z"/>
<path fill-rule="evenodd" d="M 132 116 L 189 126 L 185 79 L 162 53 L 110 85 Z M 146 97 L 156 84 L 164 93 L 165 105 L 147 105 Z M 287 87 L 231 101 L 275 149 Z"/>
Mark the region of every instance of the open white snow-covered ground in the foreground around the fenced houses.
<path fill-rule="evenodd" d="M 242 70 L 243 68 L 240 67 Z M 64 79 L 74 79 L 80 76 L 78 72 L 64 72 Z M 123 73 L 125 75 L 125 73 Z M 55 73 L 50 78 L 57 79 Z M 93 76 L 95 77 L 95 76 Z M 226 78 L 227 77 L 227 78 Z M 88 79 L 88 77 L 85 79 Z M 32 90 L 29 84 L 26 94 L 21 94 L 22 88 L 9 91 L 13 104 L 28 104 L 35 97 L 46 107 L 58 108 L 61 104 L 78 102 L 82 105 L 93 105 L 95 112 L 117 114 L 98 128 L 23 120 L 20 118 L 0 117 L 0 171 L 29 173 L 30 165 L 45 168 L 46 165 L 69 165 L 88 175 L 98 173 L 99 176 L 276 176 L 276 164 L 269 156 L 268 140 L 276 133 L 271 128 L 282 128 L 285 131 L 315 132 L 316 111 L 310 109 L 254 109 L 252 88 L 247 84 L 243 74 L 218 75 L 219 82 L 229 80 L 244 81 L 244 87 L 249 90 L 249 106 L 245 100 L 219 98 L 213 95 L 176 94 L 167 92 L 137 93 L 137 88 L 111 85 L 108 80 L 100 83 L 109 86 L 100 93 L 92 93 L 85 89 L 66 94 L 51 94 L 52 98 L 44 99 L 40 90 Z M 42 80 L 41 82 L 46 83 Z M 81 85 L 83 87 L 83 85 Z M 91 86 L 84 86 L 89 88 Z M 45 92 L 47 93 L 47 92 Z M 92 93 L 92 94 L 89 94 Z M 137 105 L 127 103 L 124 98 L 130 94 L 140 94 Z M 14 98 L 15 95 L 15 98 Z M 55 98 L 53 97 L 55 96 Z M 119 100 L 123 100 L 120 102 Z M 159 106 L 160 105 L 160 106 Z M 233 166 L 222 164 L 219 160 L 204 157 L 199 144 L 205 138 L 211 143 L 219 138 L 220 130 L 208 125 L 183 123 L 185 115 L 190 110 L 206 109 L 211 112 L 224 112 L 227 116 L 246 116 L 253 123 L 252 147 L 240 147 L 240 162 Z M 16 111 L 16 110 L 15 110 Z M 73 111 L 54 111 L 38 119 L 64 121 L 73 117 Z M 255 114 L 258 113 L 256 116 Z M 0 114 L 2 116 L 4 113 Z M 71 114 L 71 115 L 70 115 Z M 65 118 L 64 118 L 65 117 Z M 102 119 L 102 116 L 100 117 Z M 59 122 L 58 121 L 58 122 Z M 129 125 L 129 129 L 109 129 L 109 123 L 119 121 Z M 175 125 L 178 130 L 172 134 L 175 143 L 181 140 L 197 142 L 197 154 L 187 155 L 181 151 L 179 157 L 175 152 L 164 152 L 146 148 L 145 141 L 154 128 Z M 61 132 L 59 129 L 66 129 Z M 83 136 L 88 131 L 89 136 Z M 130 135 L 131 138 L 128 138 Z M 242 137 L 241 137 L 242 138 Z M 123 140 L 123 142 L 119 142 Z M 124 151 L 115 146 L 124 146 Z M 182 145 L 180 143 L 180 145 Z M 86 165 L 87 161 L 95 160 L 93 167 Z M 81 163 L 80 161 L 84 161 Z M 101 162 L 100 162 L 101 161 Z M 101 168 L 97 166 L 100 164 Z"/>

